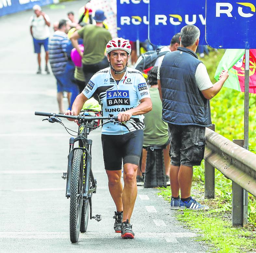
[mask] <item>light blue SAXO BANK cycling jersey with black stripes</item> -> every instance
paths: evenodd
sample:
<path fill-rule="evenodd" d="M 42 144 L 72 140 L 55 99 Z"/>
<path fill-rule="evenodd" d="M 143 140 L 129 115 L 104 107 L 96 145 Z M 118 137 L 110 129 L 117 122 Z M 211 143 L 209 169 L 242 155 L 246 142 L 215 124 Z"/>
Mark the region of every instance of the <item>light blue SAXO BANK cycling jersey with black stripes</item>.
<path fill-rule="evenodd" d="M 92 76 L 83 94 L 90 98 L 98 94 L 101 100 L 103 116 L 117 115 L 139 105 L 143 98 L 150 98 L 148 85 L 139 70 L 127 68 L 118 82 L 113 78 L 110 67 L 98 71 Z M 102 126 L 101 133 L 109 135 L 125 134 L 144 128 L 143 115 L 132 116 L 124 125 L 108 123 Z"/>

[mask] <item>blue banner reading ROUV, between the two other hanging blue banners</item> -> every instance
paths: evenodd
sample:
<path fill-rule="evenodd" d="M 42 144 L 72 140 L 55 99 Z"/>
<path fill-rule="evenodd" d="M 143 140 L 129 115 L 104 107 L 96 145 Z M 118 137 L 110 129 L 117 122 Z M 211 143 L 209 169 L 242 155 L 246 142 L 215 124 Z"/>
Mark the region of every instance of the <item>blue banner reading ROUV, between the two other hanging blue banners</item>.
<path fill-rule="evenodd" d="M 205 41 L 205 0 L 151 0 L 149 4 L 149 39 L 156 45 L 169 45 L 171 38 L 185 25 L 200 29 L 199 44 Z"/>

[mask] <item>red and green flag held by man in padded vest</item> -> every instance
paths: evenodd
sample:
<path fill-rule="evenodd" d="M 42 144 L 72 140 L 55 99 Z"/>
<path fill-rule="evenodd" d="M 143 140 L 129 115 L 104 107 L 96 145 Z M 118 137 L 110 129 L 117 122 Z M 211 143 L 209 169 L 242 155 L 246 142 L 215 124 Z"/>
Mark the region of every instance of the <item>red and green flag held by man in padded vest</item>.
<path fill-rule="evenodd" d="M 249 50 L 249 92 L 256 94 L 256 49 Z M 227 49 L 224 53 L 214 78 L 218 81 L 222 70 L 228 69 L 229 77 L 224 87 L 244 92 L 245 50 Z"/>

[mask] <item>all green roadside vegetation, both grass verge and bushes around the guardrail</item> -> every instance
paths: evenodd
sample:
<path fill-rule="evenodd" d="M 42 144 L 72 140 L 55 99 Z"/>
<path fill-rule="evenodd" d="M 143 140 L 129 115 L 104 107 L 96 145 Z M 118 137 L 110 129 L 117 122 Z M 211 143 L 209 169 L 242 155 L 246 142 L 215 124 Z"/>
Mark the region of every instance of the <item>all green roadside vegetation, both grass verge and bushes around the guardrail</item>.
<path fill-rule="evenodd" d="M 207 67 L 213 83 L 215 70 L 224 54 L 210 52 L 209 56 L 202 59 Z M 218 95 L 210 102 L 212 122 L 215 131 L 227 139 L 243 139 L 244 127 L 244 93 L 223 87 Z M 249 95 L 249 150 L 256 150 L 256 95 Z M 233 228 L 231 223 L 232 209 L 232 181 L 225 178 L 221 172 L 215 170 L 215 199 L 204 199 L 204 162 L 195 166 L 193 175 L 192 195 L 202 204 L 210 207 L 209 211 L 178 212 L 178 220 L 186 226 L 198 231 L 199 240 L 213 245 L 212 252 L 249 252 L 256 251 L 256 199 L 249 195 L 248 227 Z M 170 202 L 170 188 L 161 188 L 165 200 Z"/>

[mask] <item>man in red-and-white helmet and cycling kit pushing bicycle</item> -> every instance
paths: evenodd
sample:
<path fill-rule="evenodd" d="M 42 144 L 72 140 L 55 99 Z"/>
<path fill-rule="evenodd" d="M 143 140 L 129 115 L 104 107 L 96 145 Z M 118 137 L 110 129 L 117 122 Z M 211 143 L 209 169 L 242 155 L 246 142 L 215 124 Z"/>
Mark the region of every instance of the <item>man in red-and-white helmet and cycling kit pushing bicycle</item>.
<path fill-rule="evenodd" d="M 123 38 L 110 40 L 106 45 L 110 67 L 92 76 L 66 115 L 78 115 L 84 103 L 99 95 L 103 116 L 118 115 L 120 124 L 105 124 L 101 142 L 110 194 L 115 202 L 116 233 L 134 238 L 130 218 L 137 196 L 136 175 L 143 144 L 142 114 L 151 111 L 147 83 L 141 72 L 127 67 L 131 45 Z M 122 122 L 122 123 L 121 123 Z M 121 167 L 124 164 L 124 188 Z"/>

